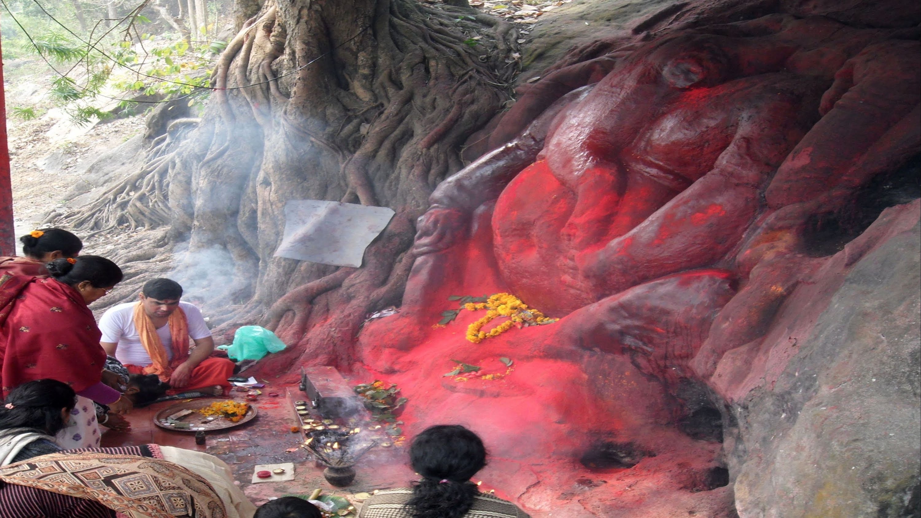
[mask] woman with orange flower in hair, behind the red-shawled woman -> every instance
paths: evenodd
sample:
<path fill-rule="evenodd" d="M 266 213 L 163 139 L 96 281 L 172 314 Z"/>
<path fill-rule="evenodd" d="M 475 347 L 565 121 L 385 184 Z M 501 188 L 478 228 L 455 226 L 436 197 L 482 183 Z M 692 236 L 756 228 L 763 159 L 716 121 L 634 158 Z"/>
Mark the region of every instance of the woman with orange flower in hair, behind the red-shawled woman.
<path fill-rule="evenodd" d="M 0 275 L 48 275 L 45 264 L 54 259 L 76 258 L 83 242 L 66 230 L 42 228 L 19 237 L 22 257 L 0 257 Z"/>

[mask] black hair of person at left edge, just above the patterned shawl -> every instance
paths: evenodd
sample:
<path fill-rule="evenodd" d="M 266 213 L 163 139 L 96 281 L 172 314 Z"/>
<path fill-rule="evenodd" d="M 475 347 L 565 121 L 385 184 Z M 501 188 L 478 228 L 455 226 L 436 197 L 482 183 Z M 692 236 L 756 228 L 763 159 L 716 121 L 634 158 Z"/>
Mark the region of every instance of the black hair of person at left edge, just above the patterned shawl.
<path fill-rule="evenodd" d="M 12 409 L 7 409 L 11 405 Z M 40 379 L 17 386 L 9 391 L 0 406 L 0 432 L 9 428 L 31 428 L 54 435 L 67 424 L 61 409 L 73 410 L 76 392 L 66 383 Z"/>

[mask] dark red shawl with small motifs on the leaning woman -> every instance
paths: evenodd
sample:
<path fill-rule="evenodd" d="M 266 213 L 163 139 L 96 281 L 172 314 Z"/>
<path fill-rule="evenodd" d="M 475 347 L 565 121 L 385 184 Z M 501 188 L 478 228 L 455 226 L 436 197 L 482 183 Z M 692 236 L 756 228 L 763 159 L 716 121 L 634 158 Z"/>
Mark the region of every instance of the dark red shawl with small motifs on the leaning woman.
<path fill-rule="evenodd" d="M 50 278 L 0 276 L 3 392 L 51 378 L 76 392 L 102 379 L 106 352 L 93 312 L 72 287 Z"/>

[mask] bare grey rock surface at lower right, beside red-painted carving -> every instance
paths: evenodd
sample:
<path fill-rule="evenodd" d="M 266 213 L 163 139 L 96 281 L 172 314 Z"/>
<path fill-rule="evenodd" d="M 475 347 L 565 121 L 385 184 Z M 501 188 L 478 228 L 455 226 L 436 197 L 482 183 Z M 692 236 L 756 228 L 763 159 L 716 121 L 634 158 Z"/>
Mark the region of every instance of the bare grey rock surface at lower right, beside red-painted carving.
<path fill-rule="evenodd" d="M 918 203 L 892 208 L 859 241 L 877 247 L 847 269 L 848 247 L 813 282 L 840 281 L 811 322 L 778 317 L 791 335 L 768 354 L 795 351 L 783 371 L 731 405 L 726 444 L 740 516 L 912 516 L 921 459 L 921 224 Z M 899 232 L 905 226 L 915 224 Z M 892 231 L 895 235 L 892 236 Z M 850 259 L 854 259 L 853 257 Z M 800 320 L 799 322 L 797 320 Z M 800 324 L 807 324 L 803 328 Z M 765 379 L 767 378 L 767 379 Z M 734 445 L 734 447 L 733 447 Z"/>

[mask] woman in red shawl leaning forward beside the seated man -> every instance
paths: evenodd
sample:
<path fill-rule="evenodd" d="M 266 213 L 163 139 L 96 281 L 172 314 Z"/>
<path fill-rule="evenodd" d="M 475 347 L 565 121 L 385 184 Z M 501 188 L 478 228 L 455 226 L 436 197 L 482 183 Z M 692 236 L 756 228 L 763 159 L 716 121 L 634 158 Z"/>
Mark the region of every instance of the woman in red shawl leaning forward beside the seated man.
<path fill-rule="evenodd" d="M 124 413 L 131 403 L 102 383 L 106 353 L 87 305 L 122 281 L 122 270 L 97 256 L 55 259 L 51 277 L 0 275 L 0 378 L 3 392 L 50 378 L 71 386 L 77 405 L 57 436 L 64 448 L 99 445 L 92 401 Z"/>

